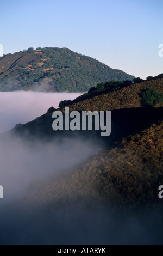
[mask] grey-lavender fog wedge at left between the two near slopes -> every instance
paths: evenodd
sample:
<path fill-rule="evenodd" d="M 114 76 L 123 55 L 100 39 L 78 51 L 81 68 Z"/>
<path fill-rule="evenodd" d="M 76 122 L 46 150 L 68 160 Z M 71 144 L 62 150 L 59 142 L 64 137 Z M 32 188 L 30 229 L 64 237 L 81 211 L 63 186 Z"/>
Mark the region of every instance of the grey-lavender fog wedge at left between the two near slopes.
<path fill-rule="evenodd" d="M 5 134 L 0 143 L 0 185 L 4 203 L 22 194 L 31 182 L 51 179 L 97 153 L 100 147 L 94 140 L 65 138 L 45 141 Z M 2 202 L 0 202 L 2 203 Z M 2 204 L 1 204 L 2 205 Z"/>

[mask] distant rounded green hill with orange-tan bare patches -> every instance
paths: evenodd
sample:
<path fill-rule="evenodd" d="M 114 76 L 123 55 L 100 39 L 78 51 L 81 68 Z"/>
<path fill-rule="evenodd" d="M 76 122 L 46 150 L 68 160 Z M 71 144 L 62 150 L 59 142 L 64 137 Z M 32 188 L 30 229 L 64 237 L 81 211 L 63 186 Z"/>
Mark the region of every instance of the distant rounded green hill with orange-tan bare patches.
<path fill-rule="evenodd" d="M 28 48 L 0 57 L 0 91 L 87 92 L 100 82 L 134 76 L 68 48 Z"/>

